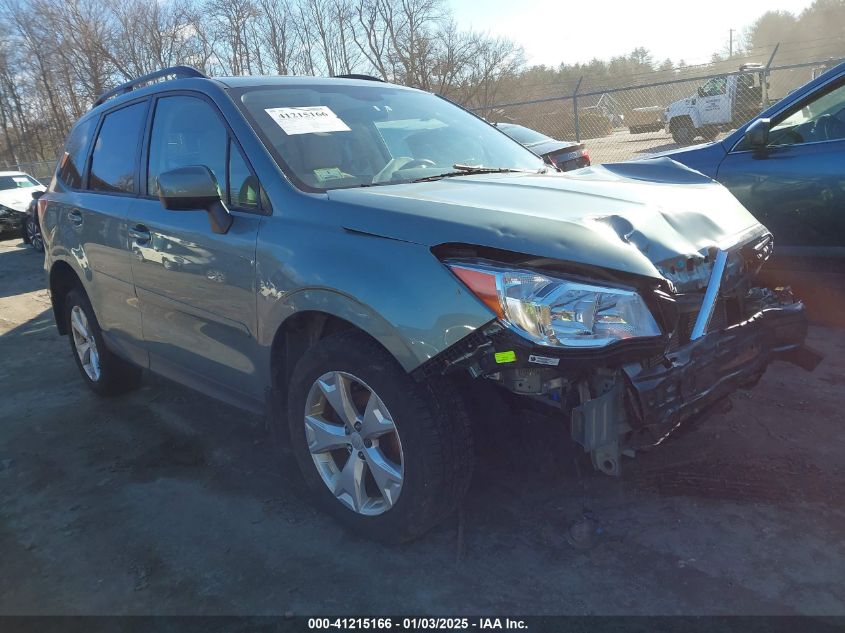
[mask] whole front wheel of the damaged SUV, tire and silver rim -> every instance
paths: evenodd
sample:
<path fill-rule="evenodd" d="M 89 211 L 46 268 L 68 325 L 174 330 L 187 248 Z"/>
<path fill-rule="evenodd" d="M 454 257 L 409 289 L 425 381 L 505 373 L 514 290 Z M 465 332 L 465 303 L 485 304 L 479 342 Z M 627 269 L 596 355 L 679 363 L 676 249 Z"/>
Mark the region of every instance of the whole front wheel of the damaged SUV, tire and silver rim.
<path fill-rule="evenodd" d="M 461 398 L 448 383 L 417 383 L 366 335 L 343 332 L 310 348 L 287 401 L 305 482 L 350 529 L 407 541 L 466 493 L 473 449 Z"/>

